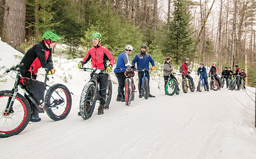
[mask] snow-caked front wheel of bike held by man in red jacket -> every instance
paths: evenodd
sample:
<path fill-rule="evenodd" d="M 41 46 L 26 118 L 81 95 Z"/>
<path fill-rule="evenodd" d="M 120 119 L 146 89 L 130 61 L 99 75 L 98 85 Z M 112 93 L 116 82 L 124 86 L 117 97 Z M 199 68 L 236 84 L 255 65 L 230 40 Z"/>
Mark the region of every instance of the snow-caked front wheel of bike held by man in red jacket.
<path fill-rule="evenodd" d="M 95 83 L 88 82 L 84 87 L 80 97 L 79 111 L 83 119 L 89 119 L 96 104 Z"/>

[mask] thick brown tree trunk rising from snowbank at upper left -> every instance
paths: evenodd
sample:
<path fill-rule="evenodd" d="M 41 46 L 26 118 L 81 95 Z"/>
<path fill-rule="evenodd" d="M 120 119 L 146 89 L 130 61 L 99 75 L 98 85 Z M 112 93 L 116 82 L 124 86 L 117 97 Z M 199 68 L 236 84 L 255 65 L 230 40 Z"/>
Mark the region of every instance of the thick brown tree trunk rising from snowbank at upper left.
<path fill-rule="evenodd" d="M 20 45 L 25 42 L 25 2 L 25 0 L 5 0 L 4 8 L 2 40 L 20 52 L 23 52 Z"/>

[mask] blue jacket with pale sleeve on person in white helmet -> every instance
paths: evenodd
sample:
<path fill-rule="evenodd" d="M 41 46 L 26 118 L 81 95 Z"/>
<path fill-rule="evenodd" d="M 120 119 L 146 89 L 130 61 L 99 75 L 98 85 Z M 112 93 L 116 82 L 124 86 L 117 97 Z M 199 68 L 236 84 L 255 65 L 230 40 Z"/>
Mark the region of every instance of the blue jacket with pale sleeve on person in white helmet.
<path fill-rule="evenodd" d="M 117 69 L 117 68 L 121 68 L 122 70 Z M 129 62 L 129 57 L 125 52 L 122 52 L 121 54 L 119 54 L 119 56 L 117 58 L 117 66 L 114 69 L 114 73 L 125 72 L 126 68 L 131 68 L 130 62 Z"/>

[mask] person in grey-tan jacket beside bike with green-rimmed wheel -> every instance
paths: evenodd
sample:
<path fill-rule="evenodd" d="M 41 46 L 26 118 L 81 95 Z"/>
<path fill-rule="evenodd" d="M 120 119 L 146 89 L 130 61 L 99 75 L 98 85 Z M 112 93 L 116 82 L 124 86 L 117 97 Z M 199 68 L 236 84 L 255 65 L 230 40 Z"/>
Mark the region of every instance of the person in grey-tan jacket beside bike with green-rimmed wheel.
<path fill-rule="evenodd" d="M 171 62 L 172 61 L 172 58 L 170 57 L 170 56 L 168 56 L 168 57 L 166 57 L 165 58 L 165 63 L 164 63 L 164 80 L 165 80 L 165 85 L 166 85 L 166 83 L 168 82 L 168 78 L 169 78 L 169 76 L 171 77 L 171 78 L 173 78 L 173 79 L 175 79 L 176 81 L 177 81 L 177 79 L 175 78 L 175 76 L 173 76 L 173 74 L 172 74 L 172 72 L 173 72 L 173 69 L 174 69 L 174 65 L 172 66 L 171 65 Z M 179 86 L 178 86 L 178 89 L 177 89 L 178 91 L 180 91 L 180 89 L 179 89 Z M 166 94 L 166 93 L 165 93 Z"/>

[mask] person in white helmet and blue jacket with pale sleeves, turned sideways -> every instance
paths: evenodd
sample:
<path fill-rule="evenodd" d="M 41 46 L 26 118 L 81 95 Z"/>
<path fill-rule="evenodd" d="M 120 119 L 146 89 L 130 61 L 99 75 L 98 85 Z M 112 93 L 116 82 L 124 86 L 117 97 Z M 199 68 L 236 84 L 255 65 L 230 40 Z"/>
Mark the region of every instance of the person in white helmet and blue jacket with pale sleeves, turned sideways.
<path fill-rule="evenodd" d="M 133 46 L 126 45 L 125 51 L 119 54 L 117 58 L 117 66 L 114 69 L 115 76 L 117 77 L 118 81 L 118 93 L 117 93 L 117 101 L 125 102 L 125 93 L 123 88 L 125 87 L 125 71 L 126 68 L 131 68 L 129 62 L 129 55 L 133 51 Z"/>

